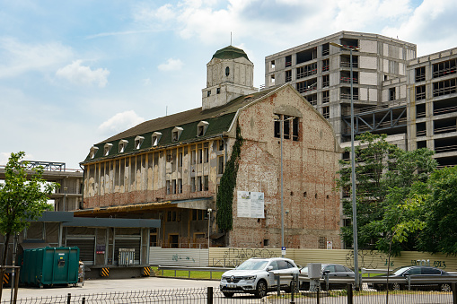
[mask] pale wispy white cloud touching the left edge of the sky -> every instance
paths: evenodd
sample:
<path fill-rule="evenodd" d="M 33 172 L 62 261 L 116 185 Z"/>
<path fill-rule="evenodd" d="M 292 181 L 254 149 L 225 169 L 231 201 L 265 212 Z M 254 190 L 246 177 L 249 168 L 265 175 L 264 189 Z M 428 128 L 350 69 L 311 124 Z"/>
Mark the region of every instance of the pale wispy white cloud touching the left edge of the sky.
<path fill-rule="evenodd" d="M 30 71 L 48 71 L 72 56 L 72 49 L 58 42 L 26 44 L 13 38 L 0 38 L 0 78 L 16 77 Z"/>

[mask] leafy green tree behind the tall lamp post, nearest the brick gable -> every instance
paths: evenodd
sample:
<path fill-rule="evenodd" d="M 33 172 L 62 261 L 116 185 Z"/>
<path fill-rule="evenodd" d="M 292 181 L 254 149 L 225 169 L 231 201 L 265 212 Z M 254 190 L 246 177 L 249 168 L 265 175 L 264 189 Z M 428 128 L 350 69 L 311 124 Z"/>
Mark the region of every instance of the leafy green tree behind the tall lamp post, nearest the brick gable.
<path fill-rule="evenodd" d="M 401 221 L 399 216 L 408 215 L 405 211 L 399 213 L 399 210 L 409 208 L 399 205 L 405 202 L 414 183 L 426 182 L 437 165 L 432 151 L 417 149 L 407 152 L 387 143 L 386 137 L 370 133 L 358 135 L 356 139 L 360 145 L 355 149 L 358 245 L 359 248 L 384 252 L 389 251 L 386 244 L 395 231 L 392 228 Z M 343 201 L 343 213 L 352 219 L 350 161 L 342 160 L 340 164 L 337 185 L 349 194 Z M 341 236 L 347 244 L 352 244 L 352 226 L 343 227 Z M 409 243 L 409 240 L 404 241 L 395 252 L 400 252 L 401 247 Z"/>

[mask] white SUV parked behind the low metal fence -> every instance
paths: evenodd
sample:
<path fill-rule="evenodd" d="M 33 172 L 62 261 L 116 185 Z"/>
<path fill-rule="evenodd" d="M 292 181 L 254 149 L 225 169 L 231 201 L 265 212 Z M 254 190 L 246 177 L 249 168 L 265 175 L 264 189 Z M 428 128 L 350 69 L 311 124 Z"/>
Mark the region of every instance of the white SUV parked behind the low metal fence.
<path fill-rule="evenodd" d="M 257 258 L 246 260 L 233 270 L 222 274 L 220 290 L 227 298 L 237 292 L 251 293 L 263 298 L 268 291 L 277 290 L 275 274 L 298 274 L 294 261 L 283 257 Z M 292 279 L 281 280 L 281 289 L 291 291 Z"/>

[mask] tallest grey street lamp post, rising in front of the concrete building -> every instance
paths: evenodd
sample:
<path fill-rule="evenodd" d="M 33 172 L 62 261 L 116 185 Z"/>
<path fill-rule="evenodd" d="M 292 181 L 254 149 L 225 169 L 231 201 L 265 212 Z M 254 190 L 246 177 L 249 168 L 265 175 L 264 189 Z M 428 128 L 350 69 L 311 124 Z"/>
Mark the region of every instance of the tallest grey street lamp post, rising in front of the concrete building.
<path fill-rule="evenodd" d="M 352 73 L 352 51 L 358 51 L 360 48 L 347 47 L 341 44 L 330 42 L 337 48 L 347 49 L 350 57 L 350 78 L 351 78 L 351 179 L 352 179 L 352 234 L 354 239 L 354 271 L 356 273 L 356 287 L 360 287 L 358 276 L 358 244 L 357 244 L 357 207 L 356 207 L 356 157 L 354 148 L 354 79 Z"/>

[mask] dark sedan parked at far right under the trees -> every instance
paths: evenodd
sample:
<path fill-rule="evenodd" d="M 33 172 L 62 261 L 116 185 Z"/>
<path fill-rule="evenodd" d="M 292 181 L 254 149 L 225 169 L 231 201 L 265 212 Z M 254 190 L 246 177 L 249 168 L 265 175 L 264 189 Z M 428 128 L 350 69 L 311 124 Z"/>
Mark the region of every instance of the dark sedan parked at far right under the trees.
<path fill-rule="evenodd" d="M 451 283 L 446 282 L 446 277 L 456 276 L 455 274 L 446 273 L 444 270 L 429 267 L 429 266 L 404 266 L 399 267 L 391 271 L 389 274 L 389 278 L 404 278 L 406 279 L 408 276 L 411 279 L 426 279 L 430 277 L 443 277 L 443 281 L 441 282 L 415 282 L 414 279 L 411 280 L 411 289 L 412 290 L 438 290 L 438 291 L 451 291 Z M 376 278 L 387 277 L 387 274 L 377 275 Z M 383 291 L 386 288 L 385 283 L 368 283 L 369 288 L 374 288 L 377 291 Z M 404 282 L 389 282 L 389 289 L 393 291 L 400 291 L 406 290 L 409 288 L 408 282 L 405 280 Z"/>

